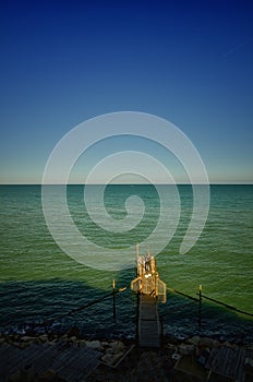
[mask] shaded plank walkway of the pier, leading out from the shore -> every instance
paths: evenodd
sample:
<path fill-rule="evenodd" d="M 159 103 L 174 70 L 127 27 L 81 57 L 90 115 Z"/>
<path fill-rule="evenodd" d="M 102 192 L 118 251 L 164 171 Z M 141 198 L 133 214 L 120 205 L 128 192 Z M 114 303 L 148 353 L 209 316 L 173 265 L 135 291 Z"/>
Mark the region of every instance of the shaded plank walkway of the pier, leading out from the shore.
<path fill-rule="evenodd" d="M 142 295 L 140 299 L 138 345 L 159 347 L 160 324 L 157 312 L 157 299 L 146 295 Z"/>

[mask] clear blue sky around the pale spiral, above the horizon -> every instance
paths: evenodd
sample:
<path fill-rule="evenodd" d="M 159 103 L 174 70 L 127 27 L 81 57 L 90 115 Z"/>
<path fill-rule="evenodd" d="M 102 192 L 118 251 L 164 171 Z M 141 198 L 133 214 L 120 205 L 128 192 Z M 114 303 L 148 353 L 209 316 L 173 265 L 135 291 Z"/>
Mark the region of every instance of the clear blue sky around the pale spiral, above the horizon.
<path fill-rule="evenodd" d="M 253 182 L 252 20 L 250 0 L 3 0 L 0 182 L 40 183 L 69 130 L 121 110 L 180 128 L 210 182 Z"/>

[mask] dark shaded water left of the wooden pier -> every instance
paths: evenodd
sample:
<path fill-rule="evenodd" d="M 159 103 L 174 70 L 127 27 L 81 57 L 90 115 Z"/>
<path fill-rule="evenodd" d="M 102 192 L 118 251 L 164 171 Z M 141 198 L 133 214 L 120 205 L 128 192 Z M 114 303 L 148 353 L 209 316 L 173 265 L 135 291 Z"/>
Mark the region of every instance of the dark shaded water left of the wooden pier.
<path fill-rule="evenodd" d="M 96 275 L 99 279 L 99 273 Z M 55 332 L 65 332 L 72 326 L 77 326 L 82 334 L 91 337 L 133 336 L 135 296 L 129 288 L 131 275 L 132 271 L 122 273 L 116 278 L 116 288 L 128 287 L 124 293 L 117 294 L 116 321 L 112 278 L 110 279 L 108 275 L 108 285 L 104 285 L 103 288 L 94 287 L 96 280 L 93 285 L 84 280 L 67 279 L 1 283 L 0 331 L 24 332 L 25 327 L 37 325 L 38 332 L 41 332 L 43 324 L 50 323 L 50 330 Z M 93 305 L 103 297 L 105 299 Z M 86 309 L 74 312 L 76 308 L 89 303 Z"/>

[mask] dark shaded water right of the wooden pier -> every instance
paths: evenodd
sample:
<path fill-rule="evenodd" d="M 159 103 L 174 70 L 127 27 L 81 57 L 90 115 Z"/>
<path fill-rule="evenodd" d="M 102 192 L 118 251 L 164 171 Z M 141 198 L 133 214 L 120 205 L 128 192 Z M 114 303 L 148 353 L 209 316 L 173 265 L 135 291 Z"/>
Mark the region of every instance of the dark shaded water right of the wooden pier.
<path fill-rule="evenodd" d="M 202 300 L 200 303 L 168 293 L 167 302 L 159 306 L 165 333 L 176 337 L 208 336 L 232 343 L 253 343 L 253 319 Z"/>

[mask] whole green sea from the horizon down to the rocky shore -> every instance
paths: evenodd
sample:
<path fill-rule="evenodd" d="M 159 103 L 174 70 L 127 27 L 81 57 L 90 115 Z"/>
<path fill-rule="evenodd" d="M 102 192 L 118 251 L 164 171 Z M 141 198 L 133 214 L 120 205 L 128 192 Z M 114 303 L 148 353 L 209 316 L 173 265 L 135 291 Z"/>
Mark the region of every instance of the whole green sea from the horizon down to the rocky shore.
<path fill-rule="evenodd" d="M 58 187 L 53 187 L 55 196 Z M 99 188 L 89 187 L 94 194 Z M 91 338 L 135 337 L 137 298 L 130 287 L 135 277 L 134 262 L 120 270 L 108 268 L 107 264 L 113 265 L 113 258 L 117 260 L 122 249 L 134 259 L 137 242 L 140 254 L 153 252 L 152 241 L 148 248 L 142 243 L 155 232 L 159 222 L 159 193 L 154 184 L 110 184 L 105 187 L 103 206 L 94 203 L 91 216 L 84 189 L 68 186 L 65 192 L 73 225 L 92 243 L 82 247 L 84 260 L 79 262 L 56 242 L 47 225 L 41 186 L 0 187 L 1 333 L 65 333 L 74 327 Z M 171 186 L 164 186 L 168 198 Z M 168 288 L 167 301 L 158 306 L 164 333 L 176 338 L 203 335 L 253 343 L 253 186 L 209 187 L 207 220 L 186 253 L 181 253 L 180 246 L 191 220 L 194 196 L 190 184 L 180 184 L 177 190 L 179 215 L 168 211 L 165 224 L 169 228 L 162 232 L 164 238 L 168 235 L 168 242 L 156 254 L 159 276 Z M 125 219 L 130 196 L 142 200 L 140 220 L 123 231 L 111 230 L 110 225 L 107 229 L 108 216 L 119 227 Z M 52 214 L 61 226 L 59 211 L 56 204 Z M 101 227 L 94 216 L 105 219 Z M 72 246 L 70 232 L 64 235 L 64 229 L 62 235 Z M 156 232 L 152 238 L 154 246 L 160 240 Z M 96 246 L 105 253 L 99 254 L 99 266 Z M 121 290 L 116 295 L 115 317 L 113 280 L 116 290 Z"/>

